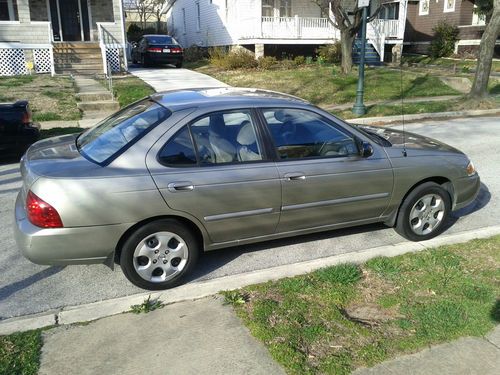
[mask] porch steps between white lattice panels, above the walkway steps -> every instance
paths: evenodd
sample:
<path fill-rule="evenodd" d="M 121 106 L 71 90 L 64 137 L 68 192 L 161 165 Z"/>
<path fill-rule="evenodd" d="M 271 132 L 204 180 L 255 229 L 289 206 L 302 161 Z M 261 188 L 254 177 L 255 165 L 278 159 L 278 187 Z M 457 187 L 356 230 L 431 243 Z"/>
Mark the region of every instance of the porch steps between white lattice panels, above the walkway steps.
<path fill-rule="evenodd" d="M 93 75 L 104 72 L 98 43 L 54 43 L 54 66 L 58 74 Z"/>

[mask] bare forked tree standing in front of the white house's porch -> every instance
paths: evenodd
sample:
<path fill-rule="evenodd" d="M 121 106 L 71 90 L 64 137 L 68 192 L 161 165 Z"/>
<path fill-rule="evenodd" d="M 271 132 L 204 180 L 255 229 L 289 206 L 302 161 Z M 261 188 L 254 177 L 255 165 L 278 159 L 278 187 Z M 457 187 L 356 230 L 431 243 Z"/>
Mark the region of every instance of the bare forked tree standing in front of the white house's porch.
<path fill-rule="evenodd" d="M 356 34 L 361 28 L 363 8 L 358 8 L 357 0 L 311 0 L 316 3 L 323 14 L 328 14 L 328 20 L 333 27 L 340 30 L 342 50 L 342 73 L 347 74 L 352 69 L 352 47 Z M 333 18 L 329 16 L 330 10 Z M 372 21 L 380 10 L 380 2 L 367 22 Z"/>

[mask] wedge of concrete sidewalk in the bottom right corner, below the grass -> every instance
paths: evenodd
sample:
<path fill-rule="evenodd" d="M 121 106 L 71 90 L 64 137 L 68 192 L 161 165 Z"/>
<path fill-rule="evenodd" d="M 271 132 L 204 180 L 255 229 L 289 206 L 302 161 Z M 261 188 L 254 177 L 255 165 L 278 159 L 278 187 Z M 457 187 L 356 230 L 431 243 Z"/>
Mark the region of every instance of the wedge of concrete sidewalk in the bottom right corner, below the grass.
<path fill-rule="evenodd" d="M 500 374 L 500 326 L 485 338 L 465 337 L 353 374 L 497 375 Z"/>

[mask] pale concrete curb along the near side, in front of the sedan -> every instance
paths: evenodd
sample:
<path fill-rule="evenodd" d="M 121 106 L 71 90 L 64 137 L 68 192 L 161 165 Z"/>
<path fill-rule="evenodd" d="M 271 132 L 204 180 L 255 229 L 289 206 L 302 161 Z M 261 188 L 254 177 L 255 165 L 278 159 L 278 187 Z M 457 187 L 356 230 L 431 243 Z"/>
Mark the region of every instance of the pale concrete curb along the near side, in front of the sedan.
<path fill-rule="evenodd" d="M 487 238 L 497 234 L 500 234 L 500 225 L 456 234 L 442 235 L 425 242 L 401 242 L 395 245 L 379 246 L 348 254 L 334 255 L 296 264 L 287 264 L 238 275 L 224 276 L 213 280 L 194 282 L 161 292 L 139 293 L 85 305 L 65 307 L 41 314 L 10 318 L 0 321 L 0 335 L 28 331 L 51 325 L 87 322 L 128 312 L 132 305 L 141 304 L 149 295 L 151 295 L 151 298 L 158 298 L 164 304 L 194 300 L 216 294 L 221 290 L 238 289 L 269 280 L 302 275 L 319 268 L 336 264 L 363 263 L 377 256 L 394 257 L 432 247 L 467 242 L 476 238 Z"/>

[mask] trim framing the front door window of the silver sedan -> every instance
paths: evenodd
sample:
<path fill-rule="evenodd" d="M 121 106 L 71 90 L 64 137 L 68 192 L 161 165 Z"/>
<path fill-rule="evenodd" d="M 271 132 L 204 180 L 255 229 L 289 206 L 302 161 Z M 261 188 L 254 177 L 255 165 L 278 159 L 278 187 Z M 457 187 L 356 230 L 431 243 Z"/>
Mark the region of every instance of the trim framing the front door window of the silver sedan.
<path fill-rule="evenodd" d="M 356 145 L 356 148 L 358 149 L 358 154 L 352 154 L 352 155 L 345 155 L 345 156 L 313 156 L 313 157 L 307 157 L 307 158 L 287 158 L 287 159 L 282 159 L 279 155 L 279 152 L 278 152 L 278 148 L 276 147 L 276 143 L 274 142 L 274 137 L 273 137 L 273 134 L 271 133 L 271 129 L 269 129 L 269 124 L 266 120 L 266 116 L 264 116 L 264 111 L 265 110 L 274 110 L 274 109 L 294 109 L 294 110 L 299 110 L 299 111 L 306 111 L 306 112 L 310 112 L 310 113 L 314 113 L 318 116 L 320 116 L 322 119 L 324 119 L 324 121 L 333 126 L 336 130 L 340 131 L 341 133 L 344 133 L 346 134 L 347 136 L 349 136 L 350 138 L 352 138 L 352 140 L 354 141 L 354 144 Z M 359 156 L 359 137 L 357 137 L 355 134 L 353 134 L 352 132 L 350 132 L 349 130 L 345 129 L 344 127 L 342 126 L 339 126 L 338 124 L 336 124 L 335 122 L 331 121 L 330 119 L 328 119 L 327 117 L 323 116 L 322 114 L 316 112 L 316 111 L 311 111 L 310 109 L 306 109 L 306 108 L 302 108 L 302 107 L 293 107 L 293 106 L 269 106 L 269 107 L 259 107 L 258 108 L 258 111 L 259 111 L 259 118 L 261 119 L 262 121 L 262 125 L 264 126 L 265 128 L 265 133 L 268 137 L 268 141 L 269 141 L 269 144 L 270 146 L 272 147 L 272 149 L 274 150 L 273 154 L 274 154 L 274 161 L 276 162 L 286 162 L 286 161 L 300 161 L 300 160 L 318 160 L 318 159 L 340 159 L 340 158 L 356 158 L 358 159 L 358 156 Z"/>

